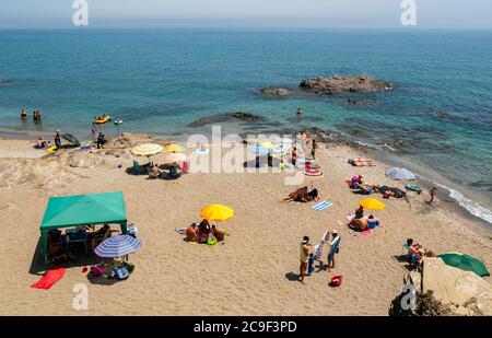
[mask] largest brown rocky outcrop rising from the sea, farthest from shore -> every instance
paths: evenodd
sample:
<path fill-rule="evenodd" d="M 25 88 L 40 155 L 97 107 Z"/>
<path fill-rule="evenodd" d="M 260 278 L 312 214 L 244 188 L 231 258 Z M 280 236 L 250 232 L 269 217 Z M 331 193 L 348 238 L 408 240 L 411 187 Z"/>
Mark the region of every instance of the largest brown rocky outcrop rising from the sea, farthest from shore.
<path fill-rule="evenodd" d="M 317 93 L 340 94 L 348 92 L 379 92 L 393 89 L 393 84 L 367 74 L 305 79 L 302 89 Z"/>

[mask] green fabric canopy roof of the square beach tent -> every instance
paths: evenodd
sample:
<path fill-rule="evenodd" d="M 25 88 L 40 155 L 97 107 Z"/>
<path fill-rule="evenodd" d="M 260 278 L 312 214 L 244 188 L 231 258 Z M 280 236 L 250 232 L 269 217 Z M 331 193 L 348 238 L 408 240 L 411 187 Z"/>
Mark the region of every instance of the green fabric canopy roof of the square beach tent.
<path fill-rule="evenodd" d="M 120 224 L 127 233 L 127 210 L 122 193 L 50 197 L 40 224 L 43 257 L 46 258 L 48 232 L 87 224 Z"/>

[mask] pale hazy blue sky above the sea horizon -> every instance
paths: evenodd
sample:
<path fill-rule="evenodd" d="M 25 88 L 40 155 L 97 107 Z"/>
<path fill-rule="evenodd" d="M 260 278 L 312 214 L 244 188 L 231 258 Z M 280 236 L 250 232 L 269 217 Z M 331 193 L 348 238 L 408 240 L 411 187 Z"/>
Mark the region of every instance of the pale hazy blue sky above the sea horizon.
<path fill-rule="evenodd" d="M 90 27 L 407 28 L 402 0 L 87 0 Z M 414 0 L 417 27 L 492 28 L 492 0 Z M 0 0 L 0 28 L 73 27 L 73 0 Z"/>

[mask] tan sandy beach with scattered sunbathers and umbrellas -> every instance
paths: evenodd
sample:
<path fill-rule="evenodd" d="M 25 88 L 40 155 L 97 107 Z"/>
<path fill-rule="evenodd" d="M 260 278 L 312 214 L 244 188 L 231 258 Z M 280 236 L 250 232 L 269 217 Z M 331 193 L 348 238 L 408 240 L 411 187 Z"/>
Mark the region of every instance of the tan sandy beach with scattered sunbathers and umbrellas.
<path fill-rule="evenodd" d="M 384 163 L 349 165 L 348 159 L 364 154 L 345 145 L 320 144 L 325 175 L 306 180 L 309 186 L 313 180 L 321 200 L 333 203 L 323 211 L 312 210 L 313 203 L 282 203 L 296 188 L 284 184 L 285 174 L 190 173 L 177 180 L 151 180 L 127 174 L 130 144 L 93 150 L 90 168 L 71 167 L 68 151 L 47 155 L 32 145 L 0 139 L 1 315 L 387 315 L 408 271 L 396 258 L 408 237 L 437 254 L 462 252 L 492 267 L 490 231 L 452 202 L 426 205 L 427 191 L 409 194 L 409 203 L 373 195 L 386 203 L 377 211 L 383 226 L 366 237 L 350 231 L 345 215 L 363 197 L 344 180 L 362 174 L 373 184 L 397 183 L 385 177 Z M 128 219 L 144 243 L 130 257 L 136 265 L 131 277 L 91 283 L 74 264 L 50 290 L 31 289 L 44 272 L 35 252 L 48 198 L 104 191 L 124 193 Z M 199 221 L 200 209 L 210 203 L 235 210 L 235 218 L 221 224 L 230 234 L 225 244 L 186 243 L 175 229 Z M 306 284 L 300 283 L 302 236 L 316 244 L 332 229 L 342 238 L 336 268 L 315 268 Z M 340 288 L 328 285 L 333 275 L 343 276 Z M 78 283 L 89 287 L 87 311 L 72 308 Z"/>

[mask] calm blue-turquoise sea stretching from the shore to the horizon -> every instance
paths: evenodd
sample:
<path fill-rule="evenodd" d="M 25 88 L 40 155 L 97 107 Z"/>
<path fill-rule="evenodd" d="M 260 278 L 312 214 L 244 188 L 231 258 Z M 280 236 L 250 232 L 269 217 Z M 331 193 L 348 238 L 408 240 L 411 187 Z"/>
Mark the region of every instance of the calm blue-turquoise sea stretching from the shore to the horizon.
<path fill-rule="evenodd" d="M 199 117 L 250 112 L 270 123 L 224 128 L 317 126 L 403 154 L 492 222 L 491 56 L 491 32 L 0 31 L 0 79 L 14 80 L 0 84 L 0 132 L 84 137 L 105 110 L 125 121 L 106 133 L 177 135 L 194 132 L 187 125 Z M 353 95 L 365 101 L 356 106 L 255 93 L 362 72 L 396 89 Z M 23 107 L 40 109 L 43 125 L 22 124 Z"/>

